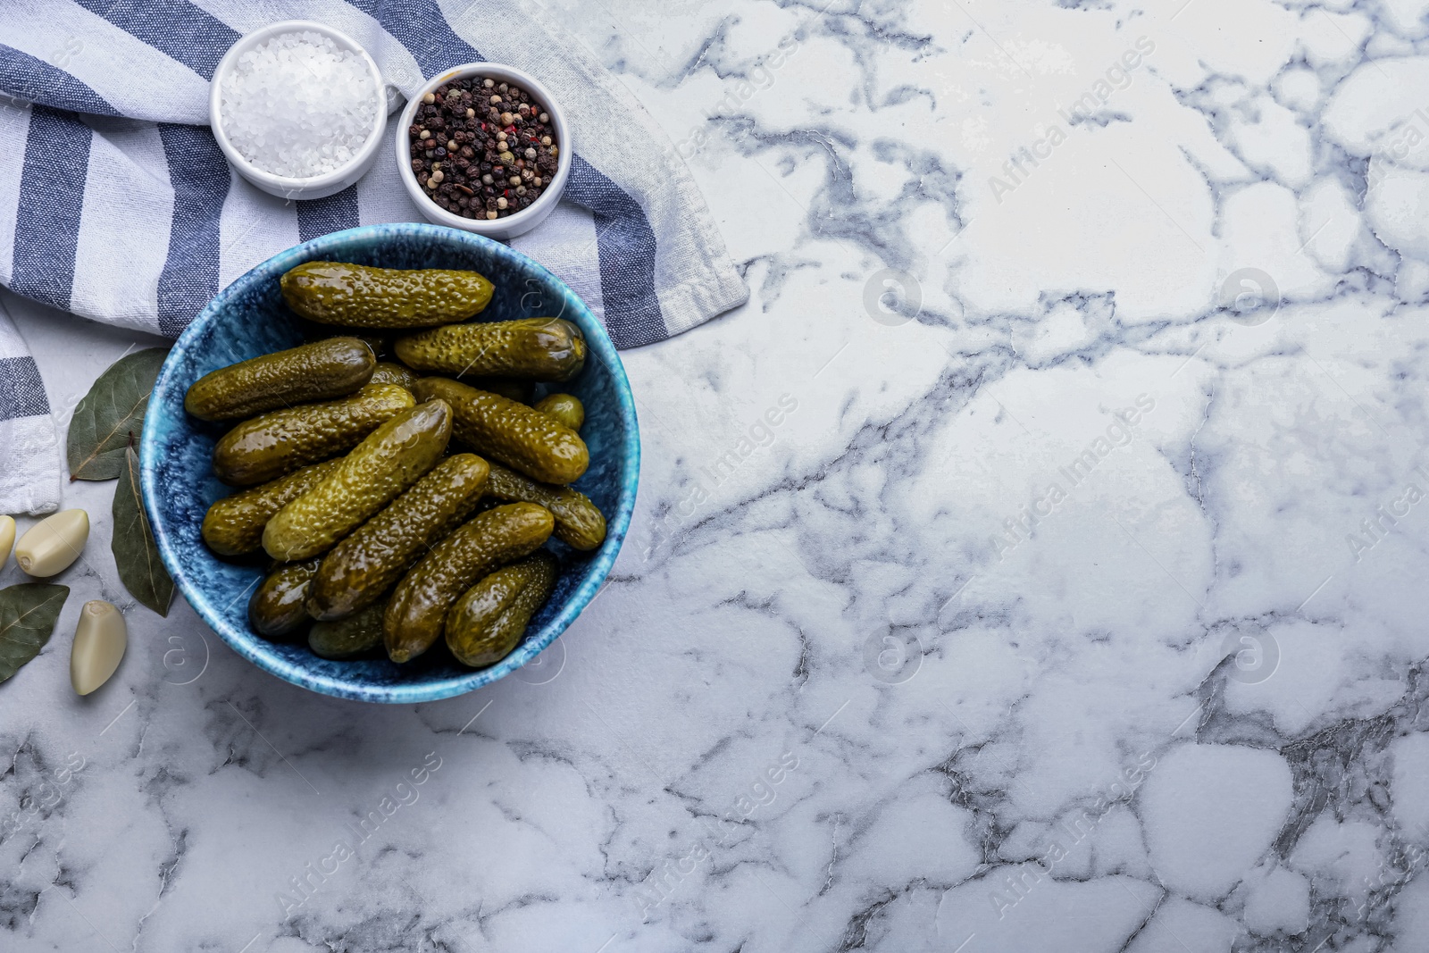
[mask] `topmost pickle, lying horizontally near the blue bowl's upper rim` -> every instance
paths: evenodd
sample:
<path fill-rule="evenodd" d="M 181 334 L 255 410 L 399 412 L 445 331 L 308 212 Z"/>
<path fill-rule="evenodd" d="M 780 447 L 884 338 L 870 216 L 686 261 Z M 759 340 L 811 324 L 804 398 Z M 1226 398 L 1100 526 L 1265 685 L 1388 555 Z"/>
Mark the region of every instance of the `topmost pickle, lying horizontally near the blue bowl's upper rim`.
<path fill-rule="evenodd" d="M 476 271 L 374 269 L 307 261 L 287 271 L 283 300 L 303 317 L 347 327 L 432 327 L 464 321 L 492 300 Z"/>

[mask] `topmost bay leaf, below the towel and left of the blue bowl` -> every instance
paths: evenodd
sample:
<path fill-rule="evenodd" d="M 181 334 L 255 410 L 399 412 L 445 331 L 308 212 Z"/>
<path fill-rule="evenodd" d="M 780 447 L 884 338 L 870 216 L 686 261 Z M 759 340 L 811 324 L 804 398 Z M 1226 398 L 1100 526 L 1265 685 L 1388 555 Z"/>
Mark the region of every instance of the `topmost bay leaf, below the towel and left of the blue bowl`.
<path fill-rule="evenodd" d="M 163 347 L 134 351 L 99 376 L 70 417 L 71 480 L 113 480 L 124 469 L 124 447 L 143 431 L 149 394 L 167 356 Z"/>

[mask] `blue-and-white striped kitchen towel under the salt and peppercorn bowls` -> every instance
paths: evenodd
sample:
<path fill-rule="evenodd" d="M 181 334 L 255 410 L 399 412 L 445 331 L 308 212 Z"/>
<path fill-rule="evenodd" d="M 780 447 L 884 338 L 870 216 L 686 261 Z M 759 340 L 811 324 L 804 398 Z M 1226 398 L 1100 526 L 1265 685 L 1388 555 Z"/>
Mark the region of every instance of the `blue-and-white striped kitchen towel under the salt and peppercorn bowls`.
<path fill-rule="evenodd" d="M 577 156 L 562 204 L 512 244 L 564 279 L 617 347 L 663 340 L 749 297 L 660 129 L 522 0 L 4 0 L 0 284 L 177 336 L 283 249 L 422 220 L 389 147 L 356 186 L 313 201 L 284 203 L 230 170 L 207 129 L 209 80 L 242 34 L 287 19 L 354 37 L 404 96 L 483 59 L 540 77 L 566 106 Z M 0 446 L 0 469 L 10 456 Z"/>

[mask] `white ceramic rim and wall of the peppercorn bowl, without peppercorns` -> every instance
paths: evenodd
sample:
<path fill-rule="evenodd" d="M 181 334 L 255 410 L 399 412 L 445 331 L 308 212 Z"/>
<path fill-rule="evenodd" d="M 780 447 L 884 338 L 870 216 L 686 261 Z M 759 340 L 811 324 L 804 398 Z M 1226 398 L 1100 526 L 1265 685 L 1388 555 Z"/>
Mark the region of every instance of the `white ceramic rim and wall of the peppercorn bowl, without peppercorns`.
<path fill-rule="evenodd" d="M 407 130 L 412 129 L 412 119 L 416 116 L 417 106 L 422 104 L 422 97 L 434 91 L 443 83 L 467 76 L 490 77 L 497 83 L 514 83 L 540 101 L 542 107 L 550 113 L 552 124 L 556 127 L 556 144 L 560 147 L 560 151 L 556 154 L 556 174 L 546 186 L 546 190 L 542 191 L 540 199 L 504 219 L 466 219 L 447 211 L 432 201 L 427 190 L 417 181 L 417 174 L 412 171 L 412 143 L 407 139 Z M 402 177 L 402 184 L 407 189 L 407 194 L 417 203 L 417 209 L 422 210 L 427 221 L 444 224 L 452 229 L 464 229 L 466 231 L 474 231 L 476 234 L 497 240 L 514 239 L 519 234 L 530 231 L 556 210 L 560 193 L 566 187 L 566 180 L 570 179 L 572 156 L 576 154 L 570 137 L 570 123 L 566 121 L 566 113 L 562 110 L 560 103 L 556 101 L 556 97 L 550 94 L 550 90 L 542 86 L 534 76 L 523 73 L 513 66 L 502 66 L 500 63 L 467 63 L 432 77 L 426 86 L 416 91 L 407 107 L 402 110 L 402 121 L 397 123 L 396 133 L 397 174 Z"/>

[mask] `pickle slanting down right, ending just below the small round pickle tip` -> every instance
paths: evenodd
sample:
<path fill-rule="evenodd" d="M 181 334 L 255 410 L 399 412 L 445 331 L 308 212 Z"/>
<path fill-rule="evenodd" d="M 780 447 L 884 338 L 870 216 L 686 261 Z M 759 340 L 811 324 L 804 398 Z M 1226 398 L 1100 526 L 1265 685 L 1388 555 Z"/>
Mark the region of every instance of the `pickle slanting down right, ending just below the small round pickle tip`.
<path fill-rule="evenodd" d="M 570 483 L 590 464 L 576 431 L 533 407 L 444 377 L 423 377 L 413 393 L 417 400 L 446 400 L 457 440 L 534 480 Z"/>

